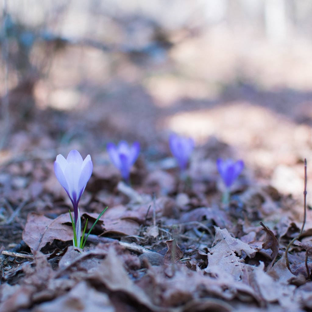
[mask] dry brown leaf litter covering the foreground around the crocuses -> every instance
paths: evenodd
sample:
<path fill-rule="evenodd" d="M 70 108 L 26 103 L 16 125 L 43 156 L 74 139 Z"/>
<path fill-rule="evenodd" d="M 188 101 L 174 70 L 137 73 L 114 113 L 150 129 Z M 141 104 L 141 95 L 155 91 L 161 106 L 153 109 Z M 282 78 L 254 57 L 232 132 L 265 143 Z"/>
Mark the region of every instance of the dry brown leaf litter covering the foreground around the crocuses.
<path fill-rule="evenodd" d="M 216 156 L 228 149 L 213 142 Z M 311 309 L 310 220 L 290 247 L 290 272 L 285 247 L 301 227 L 291 209 L 296 202 L 243 175 L 224 207 L 217 170 L 210 161 L 199 173 L 201 161 L 205 168 L 207 160 L 191 163 L 191 180 L 162 163 L 145 175 L 134 168 L 133 186 L 119 182 L 114 170 L 94 172 L 81 198 L 82 224 L 109 209 L 83 251 L 72 246 L 70 205 L 51 178 L 52 157 L 9 164 L 2 170 L 2 250 L 13 250 L 21 238 L 26 247 L 2 255 L 0 311 Z M 6 229 L 19 234 L 12 240 Z"/>

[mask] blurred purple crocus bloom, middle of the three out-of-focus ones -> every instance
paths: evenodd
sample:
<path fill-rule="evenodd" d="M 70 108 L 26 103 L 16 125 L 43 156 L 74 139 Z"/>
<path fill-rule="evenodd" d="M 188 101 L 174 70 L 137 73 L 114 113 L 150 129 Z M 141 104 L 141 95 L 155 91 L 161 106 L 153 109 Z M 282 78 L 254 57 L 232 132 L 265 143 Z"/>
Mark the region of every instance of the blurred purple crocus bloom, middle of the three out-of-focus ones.
<path fill-rule="evenodd" d="M 176 158 L 181 170 L 184 170 L 188 165 L 194 149 L 194 140 L 192 138 L 185 138 L 177 134 L 171 134 L 169 138 L 169 146 L 171 153 Z"/>

